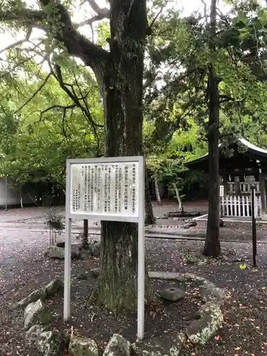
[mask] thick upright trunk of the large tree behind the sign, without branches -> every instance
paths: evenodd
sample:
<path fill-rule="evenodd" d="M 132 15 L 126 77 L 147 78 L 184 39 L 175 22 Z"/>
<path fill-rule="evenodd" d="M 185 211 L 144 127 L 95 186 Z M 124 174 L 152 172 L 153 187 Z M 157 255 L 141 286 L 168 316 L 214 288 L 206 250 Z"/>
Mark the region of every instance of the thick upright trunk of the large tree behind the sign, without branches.
<path fill-rule="evenodd" d="M 129 4 L 128 4 L 129 3 Z M 146 1 L 110 2 L 110 58 L 103 78 L 105 156 L 143 155 Z M 112 310 L 137 305 L 137 224 L 101 222 L 100 276 L 92 298 Z M 149 279 L 147 299 L 152 298 Z"/>

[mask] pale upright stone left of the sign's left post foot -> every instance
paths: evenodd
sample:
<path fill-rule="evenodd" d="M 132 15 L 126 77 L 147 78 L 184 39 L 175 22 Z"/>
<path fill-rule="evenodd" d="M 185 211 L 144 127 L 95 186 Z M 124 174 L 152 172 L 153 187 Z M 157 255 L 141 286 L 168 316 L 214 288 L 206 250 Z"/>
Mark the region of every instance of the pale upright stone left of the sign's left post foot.
<path fill-rule="evenodd" d="M 30 303 L 24 310 L 24 328 L 28 330 L 34 324 L 48 324 L 52 320 L 51 313 L 46 310 L 41 299 Z"/>

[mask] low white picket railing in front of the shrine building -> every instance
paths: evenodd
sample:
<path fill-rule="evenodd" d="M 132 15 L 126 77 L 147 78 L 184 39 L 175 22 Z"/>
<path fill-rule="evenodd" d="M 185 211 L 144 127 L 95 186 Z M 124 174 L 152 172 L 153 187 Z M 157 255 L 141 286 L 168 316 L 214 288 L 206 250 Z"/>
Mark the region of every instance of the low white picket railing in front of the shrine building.
<path fill-rule="evenodd" d="M 226 195 L 221 197 L 220 214 L 221 217 L 251 217 L 251 196 Z M 255 217 L 261 218 L 261 197 L 256 197 L 255 199 Z"/>

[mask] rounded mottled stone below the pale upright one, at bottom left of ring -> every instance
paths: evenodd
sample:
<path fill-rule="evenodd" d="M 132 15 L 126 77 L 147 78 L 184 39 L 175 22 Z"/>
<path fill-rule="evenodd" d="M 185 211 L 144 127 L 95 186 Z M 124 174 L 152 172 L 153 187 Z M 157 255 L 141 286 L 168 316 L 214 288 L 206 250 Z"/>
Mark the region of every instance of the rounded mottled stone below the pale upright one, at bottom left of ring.
<path fill-rule="evenodd" d="M 65 347 L 65 338 L 58 330 L 49 330 L 41 325 L 33 325 L 26 333 L 26 340 L 32 342 L 43 356 L 62 355 Z"/>

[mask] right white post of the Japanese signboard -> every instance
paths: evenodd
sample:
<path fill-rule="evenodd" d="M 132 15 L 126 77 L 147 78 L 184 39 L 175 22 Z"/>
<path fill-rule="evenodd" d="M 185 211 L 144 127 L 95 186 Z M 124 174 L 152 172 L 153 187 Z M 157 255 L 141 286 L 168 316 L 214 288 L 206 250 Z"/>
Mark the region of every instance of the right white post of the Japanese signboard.
<path fill-rule="evenodd" d="M 140 162 L 138 221 L 137 338 L 144 338 L 145 326 L 145 160 Z"/>

